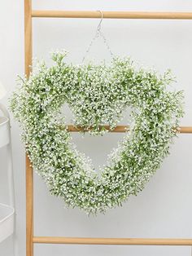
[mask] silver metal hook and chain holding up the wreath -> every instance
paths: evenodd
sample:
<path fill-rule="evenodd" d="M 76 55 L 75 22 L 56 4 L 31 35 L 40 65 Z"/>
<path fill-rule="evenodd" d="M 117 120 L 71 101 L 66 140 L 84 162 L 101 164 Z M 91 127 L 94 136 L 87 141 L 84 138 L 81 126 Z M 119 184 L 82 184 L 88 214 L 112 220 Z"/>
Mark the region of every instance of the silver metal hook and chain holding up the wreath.
<path fill-rule="evenodd" d="M 94 38 L 92 38 L 91 42 L 89 43 L 89 46 L 88 46 L 87 50 L 85 51 L 85 56 L 82 59 L 82 63 L 84 62 L 86 56 L 89 54 L 90 48 L 93 45 L 94 41 L 97 38 L 99 38 L 99 37 L 103 38 L 103 42 L 107 46 L 107 50 L 110 52 L 111 57 L 114 56 L 112 51 L 111 51 L 111 48 L 110 48 L 110 46 L 109 46 L 109 44 L 107 42 L 107 39 L 105 38 L 105 36 L 104 36 L 104 34 L 103 34 L 102 30 L 101 30 L 101 28 L 102 28 L 102 21 L 103 21 L 103 11 L 100 11 L 100 13 L 101 13 L 101 20 L 99 21 L 98 28 L 96 30 Z"/>

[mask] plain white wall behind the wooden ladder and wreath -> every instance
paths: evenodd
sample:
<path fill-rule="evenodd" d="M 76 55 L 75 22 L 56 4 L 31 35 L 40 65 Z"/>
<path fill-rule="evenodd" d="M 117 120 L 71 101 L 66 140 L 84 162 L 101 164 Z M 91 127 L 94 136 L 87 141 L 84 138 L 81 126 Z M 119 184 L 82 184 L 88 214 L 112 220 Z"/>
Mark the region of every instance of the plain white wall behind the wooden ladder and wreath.
<path fill-rule="evenodd" d="M 0 2 L 0 79 L 8 95 L 15 90 L 17 73 L 24 73 L 24 3 Z M 33 0 L 38 9 L 111 11 L 192 11 L 190 0 L 90 1 Z M 98 20 L 38 19 L 33 21 L 33 55 L 49 59 L 55 48 L 70 51 L 68 60 L 79 63 L 94 35 Z M 103 31 L 117 55 L 130 55 L 159 72 L 167 68 L 177 77 L 177 90 L 185 90 L 183 126 L 192 126 L 192 21 L 191 20 L 103 20 Z M 98 40 L 90 56 L 109 60 L 105 46 Z M 7 97 L 8 97 L 7 95 Z M 2 101 L 7 105 L 7 98 Z M 18 256 L 25 255 L 24 146 L 20 143 L 18 123 L 11 120 L 17 210 Z M 122 135 L 102 139 L 74 136 L 78 148 L 99 166 Z M 192 135 L 179 135 L 171 155 L 151 182 L 122 208 L 105 215 L 88 217 L 80 210 L 66 210 L 63 201 L 50 196 L 41 178 L 35 175 L 35 234 L 37 236 L 111 236 L 111 237 L 185 237 L 192 236 Z M 0 151 L 0 201 L 7 201 L 6 152 Z M 35 256 L 61 255 L 189 256 L 190 247 L 35 245 Z M 0 245 L 1 256 L 11 256 L 11 239 Z"/>

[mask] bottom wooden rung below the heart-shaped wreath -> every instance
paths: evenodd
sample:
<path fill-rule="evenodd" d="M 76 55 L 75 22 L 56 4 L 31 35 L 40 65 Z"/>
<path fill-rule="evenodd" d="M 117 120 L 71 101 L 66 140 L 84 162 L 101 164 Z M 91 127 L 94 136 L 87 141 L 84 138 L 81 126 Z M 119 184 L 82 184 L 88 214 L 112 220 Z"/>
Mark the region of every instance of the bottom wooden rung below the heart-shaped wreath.
<path fill-rule="evenodd" d="M 33 243 L 66 245 L 192 245 L 192 239 L 34 236 Z"/>

